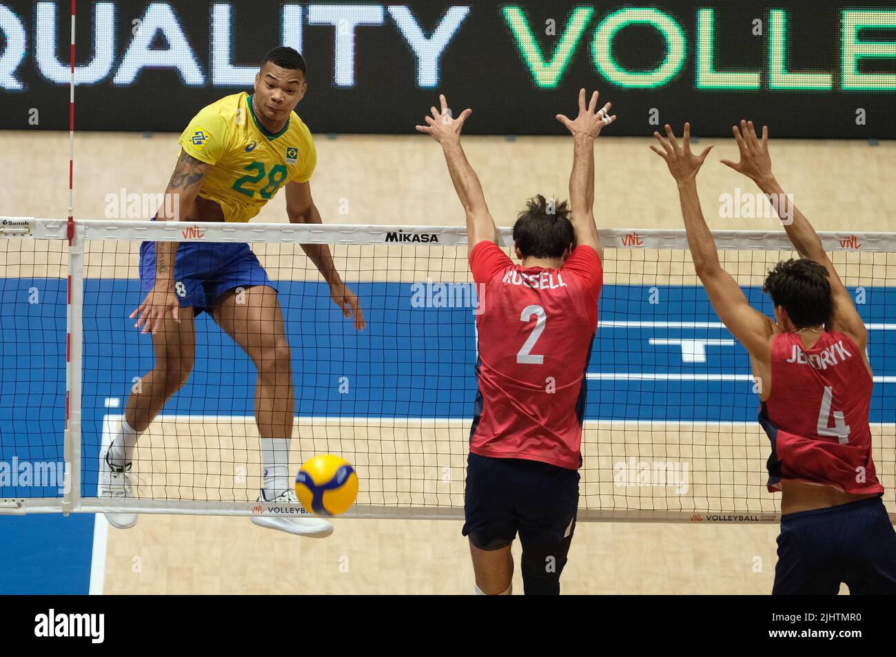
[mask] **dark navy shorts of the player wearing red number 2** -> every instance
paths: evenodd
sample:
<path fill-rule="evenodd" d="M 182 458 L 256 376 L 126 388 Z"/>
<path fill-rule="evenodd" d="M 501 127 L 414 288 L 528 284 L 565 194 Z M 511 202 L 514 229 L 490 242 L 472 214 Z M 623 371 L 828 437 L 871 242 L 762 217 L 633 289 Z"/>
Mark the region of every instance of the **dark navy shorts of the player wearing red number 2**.
<path fill-rule="evenodd" d="M 500 550 L 520 533 L 523 549 L 571 538 L 579 510 L 579 473 L 519 458 L 470 453 L 462 533 L 479 550 Z"/>

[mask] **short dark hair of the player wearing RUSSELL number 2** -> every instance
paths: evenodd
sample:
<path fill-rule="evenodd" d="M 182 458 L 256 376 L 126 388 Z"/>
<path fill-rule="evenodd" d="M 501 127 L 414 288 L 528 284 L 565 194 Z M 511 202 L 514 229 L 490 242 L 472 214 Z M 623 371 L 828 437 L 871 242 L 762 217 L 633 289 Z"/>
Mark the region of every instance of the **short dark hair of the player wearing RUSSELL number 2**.
<path fill-rule="evenodd" d="M 559 258 L 575 240 L 566 201 L 557 203 L 541 194 L 526 201 L 513 224 L 513 241 L 523 258 Z"/>

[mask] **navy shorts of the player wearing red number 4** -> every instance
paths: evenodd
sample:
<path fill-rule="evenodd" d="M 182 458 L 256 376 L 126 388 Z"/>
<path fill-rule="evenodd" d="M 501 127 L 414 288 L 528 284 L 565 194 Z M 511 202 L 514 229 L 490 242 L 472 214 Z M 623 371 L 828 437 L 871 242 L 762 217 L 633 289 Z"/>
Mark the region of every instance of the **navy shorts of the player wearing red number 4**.
<path fill-rule="evenodd" d="M 880 498 L 781 516 L 774 595 L 896 594 L 896 531 Z"/>

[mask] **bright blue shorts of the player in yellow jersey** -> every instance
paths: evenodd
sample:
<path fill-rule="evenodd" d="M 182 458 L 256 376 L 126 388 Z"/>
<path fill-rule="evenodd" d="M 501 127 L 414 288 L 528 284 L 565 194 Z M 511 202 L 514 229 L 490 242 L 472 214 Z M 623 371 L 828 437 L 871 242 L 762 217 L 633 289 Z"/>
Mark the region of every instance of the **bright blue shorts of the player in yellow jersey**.
<path fill-rule="evenodd" d="M 183 242 L 174 259 L 174 291 L 181 307 L 207 310 L 221 294 L 236 287 L 270 286 L 271 279 L 247 243 Z M 140 287 L 156 283 L 156 243 L 140 245 Z"/>

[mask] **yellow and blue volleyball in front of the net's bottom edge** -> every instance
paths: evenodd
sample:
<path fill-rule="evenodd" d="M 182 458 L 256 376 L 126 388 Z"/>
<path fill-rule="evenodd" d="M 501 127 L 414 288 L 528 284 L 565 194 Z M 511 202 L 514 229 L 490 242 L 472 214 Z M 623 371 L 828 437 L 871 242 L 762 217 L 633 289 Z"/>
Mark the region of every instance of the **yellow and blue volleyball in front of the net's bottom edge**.
<path fill-rule="evenodd" d="M 339 516 L 358 497 L 358 474 L 341 456 L 314 456 L 296 475 L 296 495 L 309 511 L 320 516 Z"/>

